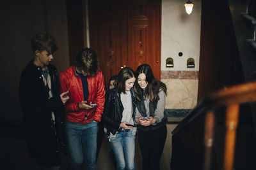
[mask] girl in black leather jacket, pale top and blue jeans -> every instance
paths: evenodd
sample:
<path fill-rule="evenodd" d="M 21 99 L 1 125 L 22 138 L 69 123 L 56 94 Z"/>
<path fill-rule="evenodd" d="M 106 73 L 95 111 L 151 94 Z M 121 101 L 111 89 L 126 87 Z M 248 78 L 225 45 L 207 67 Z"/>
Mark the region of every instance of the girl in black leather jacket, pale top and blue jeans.
<path fill-rule="evenodd" d="M 125 67 L 117 75 L 116 88 L 106 94 L 102 122 L 115 154 L 116 169 L 135 169 L 134 81 L 134 71 Z"/>

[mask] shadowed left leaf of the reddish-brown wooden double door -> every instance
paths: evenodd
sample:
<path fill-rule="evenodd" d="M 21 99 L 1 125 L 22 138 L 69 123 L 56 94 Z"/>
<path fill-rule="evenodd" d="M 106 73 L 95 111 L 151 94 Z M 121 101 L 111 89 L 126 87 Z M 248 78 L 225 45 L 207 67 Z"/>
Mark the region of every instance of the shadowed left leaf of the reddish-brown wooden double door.
<path fill-rule="evenodd" d="M 99 56 L 106 87 L 109 78 L 118 74 L 127 58 L 127 24 L 122 21 L 127 12 L 124 10 L 125 1 L 90 1 L 90 47 Z"/>

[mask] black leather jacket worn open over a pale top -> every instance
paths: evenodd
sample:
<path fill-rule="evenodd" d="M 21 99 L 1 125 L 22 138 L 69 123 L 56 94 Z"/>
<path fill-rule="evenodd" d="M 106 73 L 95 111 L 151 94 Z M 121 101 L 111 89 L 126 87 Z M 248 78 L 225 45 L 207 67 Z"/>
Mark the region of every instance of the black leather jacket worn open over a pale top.
<path fill-rule="evenodd" d="M 136 96 L 134 90 L 131 89 L 132 97 L 132 118 L 135 118 L 135 108 L 136 108 Z M 102 114 L 102 122 L 104 127 L 106 127 L 106 135 L 109 136 L 110 132 L 116 134 L 117 131 L 122 131 L 120 128 L 121 120 L 123 117 L 124 107 L 120 98 L 120 94 L 116 89 L 108 90 L 105 97 L 104 111 Z"/>

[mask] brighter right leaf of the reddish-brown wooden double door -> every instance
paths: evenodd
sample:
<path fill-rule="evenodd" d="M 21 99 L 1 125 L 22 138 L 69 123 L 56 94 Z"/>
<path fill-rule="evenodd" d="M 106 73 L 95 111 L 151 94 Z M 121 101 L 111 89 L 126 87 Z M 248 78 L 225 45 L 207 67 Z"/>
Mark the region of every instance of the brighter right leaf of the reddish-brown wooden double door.
<path fill-rule="evenodd" d="M 134 71 L 149 64 L 154 76 L 161 76 L 161 1 L 128 1 L 127 65 Z"/>

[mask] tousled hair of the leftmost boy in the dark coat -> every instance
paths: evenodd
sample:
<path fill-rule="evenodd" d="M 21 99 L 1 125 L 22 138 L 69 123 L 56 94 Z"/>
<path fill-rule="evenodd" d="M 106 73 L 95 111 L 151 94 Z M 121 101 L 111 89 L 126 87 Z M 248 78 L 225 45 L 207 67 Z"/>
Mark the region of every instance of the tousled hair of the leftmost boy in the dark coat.
<path fill-rule="evenodd" d="M 46 50 L 49 54 L 56 52 L 58 49 L 54 37 L 47 32 L 36 33 L 31 39 L 31 48 L 33 52 Z"/>

